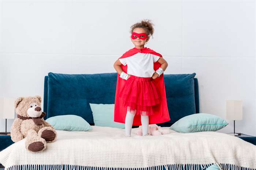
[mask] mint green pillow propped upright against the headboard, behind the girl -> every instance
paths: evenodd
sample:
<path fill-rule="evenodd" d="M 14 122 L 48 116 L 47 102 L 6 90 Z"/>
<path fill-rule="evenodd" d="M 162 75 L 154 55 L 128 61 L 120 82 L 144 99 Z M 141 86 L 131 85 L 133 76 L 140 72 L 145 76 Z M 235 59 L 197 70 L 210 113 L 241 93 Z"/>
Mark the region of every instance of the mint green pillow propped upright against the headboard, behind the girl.
<path fill-rule="evenodd" d="M 108 126 L 124 129 L 124 123 L 114 122 L 114 104 L 89 103 L 93 111 L 95 126 Z"/>

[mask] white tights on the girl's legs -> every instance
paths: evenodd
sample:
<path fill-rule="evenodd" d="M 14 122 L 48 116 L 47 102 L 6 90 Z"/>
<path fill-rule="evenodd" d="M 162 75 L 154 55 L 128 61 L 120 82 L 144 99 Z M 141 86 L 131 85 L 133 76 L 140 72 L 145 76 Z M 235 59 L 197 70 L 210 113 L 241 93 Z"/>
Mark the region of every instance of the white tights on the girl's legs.
<path fill-rule="evenodd" d="M 125 117 L 125 135 L 131 136 L 132 123 L 133 118 L 135 116 L 136 110 L 129 112 L 127 110 L 127 114 Z M 141 116 L 141 124 L 142 124 L 142 135 L 148 134 L 148 116 Z"/>

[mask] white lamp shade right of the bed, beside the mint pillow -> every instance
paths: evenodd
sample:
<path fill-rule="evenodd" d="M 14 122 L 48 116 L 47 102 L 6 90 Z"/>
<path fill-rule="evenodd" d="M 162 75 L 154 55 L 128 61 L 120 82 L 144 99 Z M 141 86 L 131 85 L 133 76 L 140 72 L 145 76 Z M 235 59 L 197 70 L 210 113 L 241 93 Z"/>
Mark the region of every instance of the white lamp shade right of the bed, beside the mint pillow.
<path fill-rule="evenodd" d="M 226 119 L 242 120 L 242 100 L 226 100 Z"/>

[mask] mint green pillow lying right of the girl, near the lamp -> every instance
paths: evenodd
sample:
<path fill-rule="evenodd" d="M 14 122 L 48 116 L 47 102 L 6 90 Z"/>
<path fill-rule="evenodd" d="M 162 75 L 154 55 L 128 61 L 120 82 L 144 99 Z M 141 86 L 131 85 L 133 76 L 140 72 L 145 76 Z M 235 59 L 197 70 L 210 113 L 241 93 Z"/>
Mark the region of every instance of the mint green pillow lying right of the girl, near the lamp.
<path fill-rule="evenodd" d="M 217 131 L 227 126 L 226 120 L 207 113 L 196 113 L 185 116 L 175 122 L 170 129 L 176 132 L 192 133 L 202 131 Z"/>

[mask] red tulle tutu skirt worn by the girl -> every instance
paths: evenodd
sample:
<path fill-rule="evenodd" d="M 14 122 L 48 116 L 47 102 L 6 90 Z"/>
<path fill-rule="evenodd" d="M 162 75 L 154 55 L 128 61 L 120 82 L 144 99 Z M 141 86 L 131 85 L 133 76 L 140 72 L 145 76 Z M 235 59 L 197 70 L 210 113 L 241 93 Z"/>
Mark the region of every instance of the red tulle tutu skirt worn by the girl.
<path fill-rule="evenodd" d="M 153 115 L 153 107 L 161 102 L 153 79 L 134 75 L 126 80 L 118 97 L 127 111 L 142 116 Z"/>

